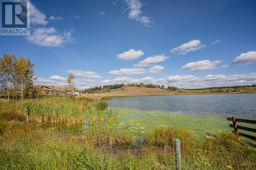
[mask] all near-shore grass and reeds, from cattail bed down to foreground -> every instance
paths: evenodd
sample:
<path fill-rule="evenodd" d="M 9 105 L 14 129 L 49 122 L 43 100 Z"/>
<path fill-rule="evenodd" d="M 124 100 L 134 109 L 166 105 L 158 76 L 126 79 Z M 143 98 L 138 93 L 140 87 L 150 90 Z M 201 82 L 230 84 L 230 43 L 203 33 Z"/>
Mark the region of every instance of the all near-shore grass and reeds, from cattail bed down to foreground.
<path fill-rule="evenodd" d="M 202 140 L 185 128 L 158 126 L 135 139 L 129 131 L 111 127 L 108 122 L 116 113 L 107 112 L 104 100 L 108 98 L 45 96 L 1 101 L 0 167 L 174 169 L 176 138 L 181 140 L 183 169 L 255 167 L 256 150 L 231 132 Z"/>

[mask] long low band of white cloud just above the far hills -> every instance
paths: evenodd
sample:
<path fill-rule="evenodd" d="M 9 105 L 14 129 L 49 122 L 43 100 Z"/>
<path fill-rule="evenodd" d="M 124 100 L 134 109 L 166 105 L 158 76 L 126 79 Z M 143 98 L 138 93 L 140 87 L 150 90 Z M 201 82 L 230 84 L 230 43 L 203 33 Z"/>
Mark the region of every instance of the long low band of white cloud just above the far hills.
<path fill-rule="evenodd" d="M 156 79 L 154 77 L 144 77 L 134 79 L 129 77 L 117 77 L 115 79 L 106 79 L 100 82 L 87 83 L 87 86 L 94 87 L 103 84 L 115 83 L 154 83 L 165 86 L 174 85 L 179 88 L 205 88 L 213 86 L 234 86 L 234 85 L 252 85 L 256 84 L 256 72 L 240 75 L 207 75 L 197 77 L 194 75 L 176 75 Z"/>

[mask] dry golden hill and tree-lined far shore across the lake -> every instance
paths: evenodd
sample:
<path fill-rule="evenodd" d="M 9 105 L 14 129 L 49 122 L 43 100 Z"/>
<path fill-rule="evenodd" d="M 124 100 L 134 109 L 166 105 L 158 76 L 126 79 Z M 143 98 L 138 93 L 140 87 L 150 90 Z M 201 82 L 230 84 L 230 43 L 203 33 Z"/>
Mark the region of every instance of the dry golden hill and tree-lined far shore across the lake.
<path fill-rule="evenodd" d="M 121 86 L 121 87 L 120 87 Z M 159 85 L 158 85 L 159 86 Z M 148 96 L 148 95 L 195 95 L 195 94 L 255 94 L 256 85 L 251 86 L 232 86 L 232 87 L 211 87 L 205 89 L 178 89 L 174 86 L 174 90 L 167 90 L 158 87 L 146 86 L 130 86 L 124 84 L 117 84 L 116 88 L 109 87 L 94 87 L 82 91 L 80 96 L 92 99 L 115 98 L 125 96 Z M 168 88 L 168 87 L 167 87 Z M 87 92 L 87 93 L 86 93 Z"/>

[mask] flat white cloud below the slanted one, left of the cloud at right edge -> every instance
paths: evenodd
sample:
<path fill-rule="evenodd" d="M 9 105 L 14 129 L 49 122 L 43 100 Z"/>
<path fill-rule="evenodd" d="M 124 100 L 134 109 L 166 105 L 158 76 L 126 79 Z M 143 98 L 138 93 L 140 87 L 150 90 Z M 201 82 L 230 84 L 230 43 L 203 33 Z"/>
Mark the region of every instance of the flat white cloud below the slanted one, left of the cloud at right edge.
<path fill-rule="evenodd" d="M 197 62 L 190 62 L 186 65 L 182 66 L 181 69 L 190 69 L 191 71 L 202 71 L 202 70 L 209 70 L 215 69 L 217 64 L 220 64 L 222 61 L 210 61 L 210 60 L 199 60 Z"/>

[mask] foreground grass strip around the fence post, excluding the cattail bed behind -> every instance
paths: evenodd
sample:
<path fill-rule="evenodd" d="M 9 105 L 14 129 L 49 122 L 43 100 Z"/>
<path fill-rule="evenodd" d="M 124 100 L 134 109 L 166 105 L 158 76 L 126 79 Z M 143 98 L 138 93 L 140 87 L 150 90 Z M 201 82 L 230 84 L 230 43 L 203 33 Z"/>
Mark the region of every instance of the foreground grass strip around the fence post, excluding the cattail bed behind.
<path fill-rule="evenodd" d="M 14 122 L 8 122 L 14 124 Z M 174 169 L 174 139 L 181 139 L 183 169 L 253 169 L 256 151 L 236 136 L 198 140 L 186 129 L 157 128 L 137 142 L 108 126 L 83 133 L 12 125 L 0 135 L 3 169 Z"/>

